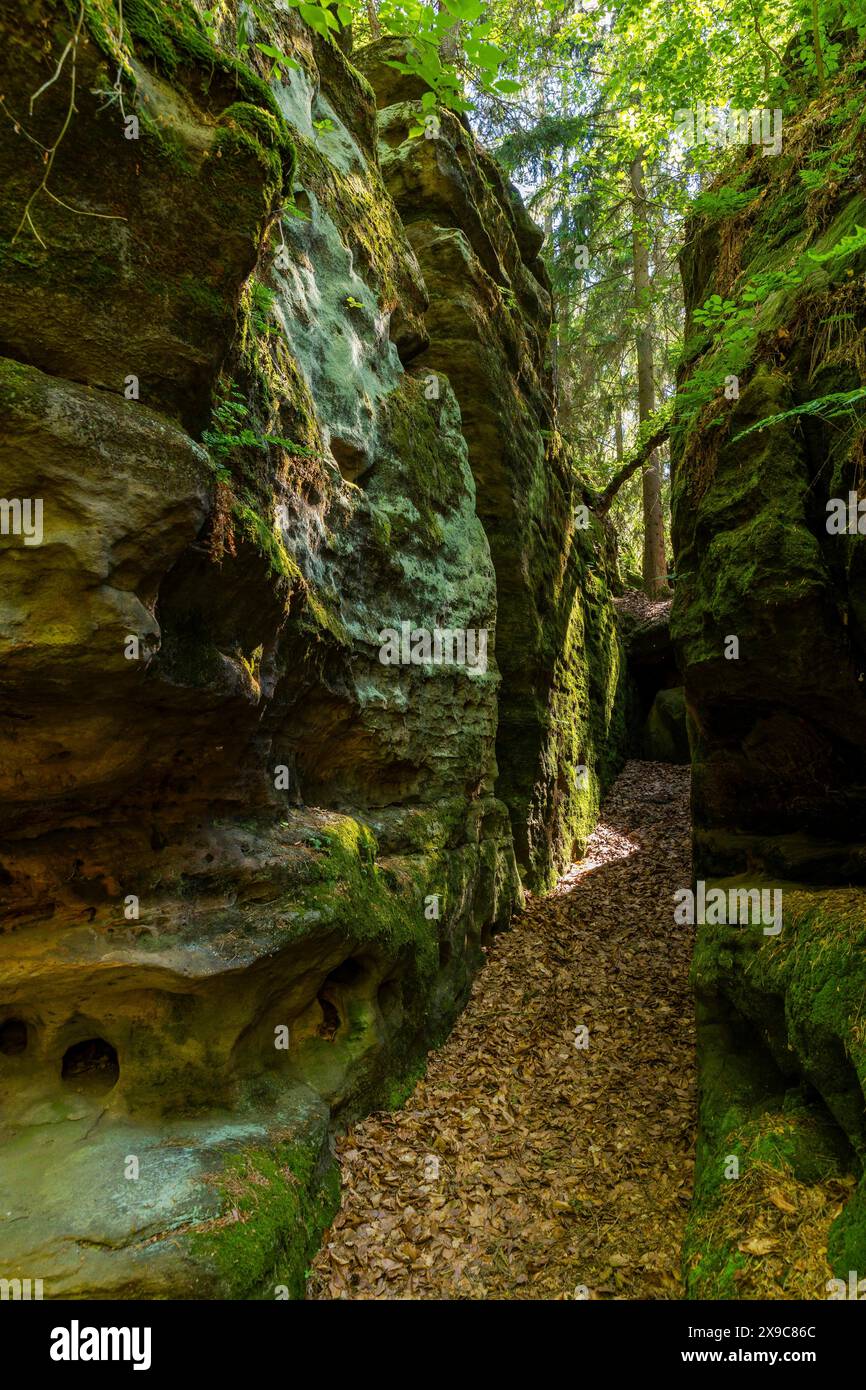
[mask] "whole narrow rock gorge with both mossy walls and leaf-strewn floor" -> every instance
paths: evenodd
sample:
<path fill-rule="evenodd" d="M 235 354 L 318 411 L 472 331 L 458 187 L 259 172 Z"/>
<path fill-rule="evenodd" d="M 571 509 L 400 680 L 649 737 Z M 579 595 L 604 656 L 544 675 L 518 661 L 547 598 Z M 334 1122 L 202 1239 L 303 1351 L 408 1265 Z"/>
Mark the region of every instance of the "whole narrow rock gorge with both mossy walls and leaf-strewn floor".
<path fill-rule="evenodd" d="M 509 174 L 517 83 L 477 114 L 450 31 L 431 76 L 378 0 L 3 18 L 4 1289 L 866 1275 L 866 24 L 833 4 L 781 153 L 685 164 L 676 366 L 667 172 L 646 136 L 594 203 L 588 99 L 530 83 L 566 217 Z M 482 10 L 435 10 L 466 71 Z M 619 8 L 577 10 L 603 54 Z M 620 208 L 599 328 L 574 267 Z M 714 890 L 778 906 L 677 916 Z"/>

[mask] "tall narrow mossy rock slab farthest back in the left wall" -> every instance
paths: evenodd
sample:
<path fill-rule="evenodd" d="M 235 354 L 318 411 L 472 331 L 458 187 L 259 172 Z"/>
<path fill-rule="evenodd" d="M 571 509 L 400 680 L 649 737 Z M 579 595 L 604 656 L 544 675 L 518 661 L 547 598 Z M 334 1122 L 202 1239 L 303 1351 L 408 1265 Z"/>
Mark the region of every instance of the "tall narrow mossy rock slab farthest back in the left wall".
<path fill-rule="evenodd" d="M 498 795 L 534 888 L 550 885 L 589 834 L 621 764 L 628 678 L 609 552 L 555 431 L 550 324 L 539 228 L 502 171 L 450 113 L 435 139 L 410 138 L 411 81 L 391 40 L 360 50 L 379 103 L 382 175 L 430 293 L 430 346 L 413 374 L 448 377 L 468 445 L 477 512 L 496 571 Z"/>

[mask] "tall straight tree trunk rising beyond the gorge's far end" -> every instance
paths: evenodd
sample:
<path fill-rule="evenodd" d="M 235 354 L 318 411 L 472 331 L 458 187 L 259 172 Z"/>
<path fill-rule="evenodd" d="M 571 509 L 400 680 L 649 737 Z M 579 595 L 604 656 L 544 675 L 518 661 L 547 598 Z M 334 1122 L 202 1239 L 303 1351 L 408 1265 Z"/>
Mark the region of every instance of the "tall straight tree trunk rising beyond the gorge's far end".
<path fill-rule="evenodd" d="M 638 357 L 638 416 L 641 424 L 655 413 L 656 391 L 652 363 L 652 304 L 649 285 L 649 236 L 646 231 L 646 195 L 644 192 L 644 156 L 632 160 L 631 170 L 631 257 L 634 278 L 635 349 Z M 664 559 L 664 517 L 662 516 L 662 474 L 656 450 L 644 468 L 644 587 L 651 598 L 664 598 L 667 563 Z"/>

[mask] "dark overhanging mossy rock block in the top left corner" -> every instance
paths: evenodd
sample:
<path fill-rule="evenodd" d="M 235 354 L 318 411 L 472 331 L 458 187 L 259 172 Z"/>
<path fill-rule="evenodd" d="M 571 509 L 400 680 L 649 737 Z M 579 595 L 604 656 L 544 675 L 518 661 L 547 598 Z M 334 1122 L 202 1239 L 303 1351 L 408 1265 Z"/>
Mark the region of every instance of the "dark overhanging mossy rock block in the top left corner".
<path fill-rule="evenodd" d="M 64 126 L 70 61 L 32 117 L 29 96 L 75 14 L 39 0 L 4 33 L 7 108 L 42 146 Z M 0 146 L 0 336 L 7 356 L 120 396 L 135 377 L 136 399 L 197 432 L 292 142 L 265 83 L 214 61 L 192 6 L 126 7 L 122 50 L 113 15 L 85 7 L 47 190 L 39 145 L 10 128 Z"/>

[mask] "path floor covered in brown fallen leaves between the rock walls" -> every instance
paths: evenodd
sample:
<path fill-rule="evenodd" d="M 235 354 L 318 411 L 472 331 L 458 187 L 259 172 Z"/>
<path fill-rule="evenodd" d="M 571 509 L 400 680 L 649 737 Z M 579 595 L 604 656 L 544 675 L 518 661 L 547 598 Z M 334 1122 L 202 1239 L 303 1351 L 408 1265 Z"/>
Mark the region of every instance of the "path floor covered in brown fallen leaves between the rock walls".
<path fill-rule="evenodd" d="M 681 1297 L 688 778 L 627 764 L 587 856 L 493 940 L 406 1105 L 339 1141 L 310 1298 Z"/>

